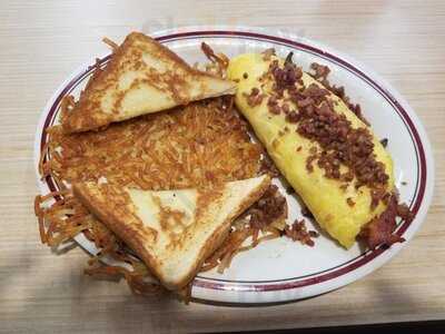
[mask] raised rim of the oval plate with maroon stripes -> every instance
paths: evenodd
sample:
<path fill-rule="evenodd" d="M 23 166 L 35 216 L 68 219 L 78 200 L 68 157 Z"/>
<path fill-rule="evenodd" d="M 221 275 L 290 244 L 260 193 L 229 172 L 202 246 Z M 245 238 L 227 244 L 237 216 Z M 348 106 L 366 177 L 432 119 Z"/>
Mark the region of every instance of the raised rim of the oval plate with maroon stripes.
<path fill-rule="evenodd" d="M 425 175 L 425 188 L 422 198 L 418 200 L 418 212 L 416 217 L 413 219 L 411 224 L 400 224 L 402 227 L 405 228 L 402 232 L 406 242 L 404 244 L 393 245 L 389 249 L 382 249 L 377 248 L 375 250 L 369 250 L 369 255 L 366 255 L 362 258 L 365 259 L 365 263 L 356 265 L 350 271 L 334 276 L 333 278 L 327 279 L 318 279 L 317 276 L 308 278 L 310 279 L 310 284 L 300 284 L 301 279 L 291 281 L 291 278 L 286 279 L 284 283 L 274 284 L 273 282 L 269 283 L 261 283 L 261 284 L 246 284 L 246 283 L 227 283 L 227 282 L 219 282 L 214 281 L 211 278 L 206 277 L 197 277 L 194 282 L 194 293 L 192 295 L 198 298 L 204 298 L 207 301 L 219 301 L 219 302 L 235 302 L 239 303 L 270 303 L 270 302 L 284 302 L 289 299 L 303 298 L 308 296 L 318 295 L 340 286 L 347 285 L 354 281 L 357 281 L 365 275 L 369 274 L 370 272 L 377 269 L 383 264 L 388 262 L 395 254 L 397 254 L 409 239 L 415 235 L 417 229 L 422 226 L 425 222 L 427 209 L 431 205 L 432 196 L 433 196 L 433 187 L 434 187 L 434 158 L 432 155 L 432 148 L 426 135 L 426 131 L 419 121 L 415 111 L 409 107 L 407 101 L 398 94 L 396 89 L 394 89 L 386 80 L 379 77 L 374 70 L 367 68 L 359 61 L 350 58 L 343 52 L 334 50 L 330 47 L 327 47 L 320 42 L 309 40 L 307 38 L 298 37 L 294 33 L 284 32 L 283 30 L 277 29 L 264 29 L 264 28 L 253 28 L 253 27 L 229 27 L 229 26 L 192 26 L 192 27 L 184 27 L 184 28 L 175 28 L 162 30 L 158 32 L 150 33 L 155 36 L 159 41 L 167 42 L 172 41 L 176 38 L 184 38 L 184 37 L 194 37 L 196 39 L 200 38 L 211 38 L 215 36 L 222 36 L 227 38 L 239 38 L 239 37 L 258 37 L 264 38 L 264 41 L 271 41 L 276 42 L 277 40 L 284 42 L 289 48 L 296 48 L 297 46 L 309 47 L 315 49 L 323 55 L 333 56 L 334 59 L 338 59 L 345 62 L 348 66 L 352 66 L 355 70 L 358 70 L 362 75 L 369 78 L 377 85 L 380 89 L 383 89 L 383 94 L 386 94 L 393 102 L 398 105 L 404 112 L 407 119 L 411 122 L 411 130 L 415 130 L 417 132 L 416 144 L 419 145 L 419 148 L 423 149 L 424 153 L 424 160 L 425 165 L 422 167 L 422 171 L 426 173 Z M 109 58 L 109 52 L 107 56 L 102 57 L 101 60 Z M 90 70 L 91 65 L 95 61 L 88 61 L 78 67 L 55 91 L 52 97 L 49 99 L 48 104 L 44 107 L 44 111 L 41 114 L 39 125 L 36 131 L 34 138 L 34 166 L 38 167 L 38 163 L 40 159 L 40 149 L 42 148 L 41 145 L 41 137 L 43 136 L 44 126 L 48 125 L 48 118 L 50 116 L 50 111 L 57 107 L 57 101 L 60 99 L 62 95 L 65 95 L 71 84 L 76 80 L 79 80 L 82 76 L 86 75 L 88 70 Z M 57 108 L 56 108 L 57 109 Z M 56 110 L 55 110 L 56 111 Z M 37 179 L 40 179 L 38 174 L 38 168 L 36 168 Z M 43 190 L 42 183 L 39 183 L 40 190 Z M 415 224 L 414 224 L 415 223 Z M 85 238 L 85 237 L 83 237 Z M 95 254 L 93 249 L 86 246 L 85 242 L 81 238 L 76 238 L 76 240 L 85 248 L 87 252 Z M 86 240 L 86 239 L 85 239 Z M 383 254 L 383 255 L 382 255 Z M 382 255 L 382 256 L 380 256 Z M 369 258 L 372 256 L 372 258 Z M 362 261 L 360 259 L 360 261 Z M 342 268 L 340 268 L 342 269 Z M 334 271 L 333 273 L 336 273 Z M 330 273 L 328 273 L 329 275 Z M 320 275 L 323 276 L 323 274 Z M 343 279 L 340 279 L 343 278 Z M 289 282 L 290 279 L 290 282 Z M 314 292 L 313 288 L 318 286 Z M 274 292 L 283 292 L 283 291 L 300 291 L 300 293 L 290 293 L 277 296 Z M 210 298 L 209 298 L 210 292 Z M 239 294 L 245 296 L 240 297 Z M 258 295 L 261 297 L 258 298 Z"/>

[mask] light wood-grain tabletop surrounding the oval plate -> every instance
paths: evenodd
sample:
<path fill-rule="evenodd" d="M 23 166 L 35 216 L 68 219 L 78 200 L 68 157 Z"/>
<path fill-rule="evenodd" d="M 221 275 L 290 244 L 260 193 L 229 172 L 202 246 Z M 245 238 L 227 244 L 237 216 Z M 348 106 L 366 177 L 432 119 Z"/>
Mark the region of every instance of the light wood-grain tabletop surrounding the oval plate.
<path fill-rule="evenodd" d="M 188 306 L 131 295 L 82 275 L 87 255 L 57 256 L 39 240 L 33 137 L 60 82 L 121 40 L 184 24 L 276 27 L 349 53 L 416 110 L 433 144 L 436 187 L 427 219 L 390 263 L 336 292 L 268 307 Z M 0 2 L 0 332 L 174 333 L 445 318 L 444 1 Z"/>

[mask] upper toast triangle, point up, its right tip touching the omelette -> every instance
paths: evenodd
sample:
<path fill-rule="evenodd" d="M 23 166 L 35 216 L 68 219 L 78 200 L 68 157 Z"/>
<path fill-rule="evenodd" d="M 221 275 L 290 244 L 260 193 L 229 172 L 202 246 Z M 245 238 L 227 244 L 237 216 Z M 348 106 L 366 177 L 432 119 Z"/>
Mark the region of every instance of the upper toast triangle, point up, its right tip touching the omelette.
<path fill-rule="evenodd" d="M 61 122 L 66 132 L 92 130 L 235 89 L 235 82 L 199 71 L 152 38 L 132 32 Z"/>

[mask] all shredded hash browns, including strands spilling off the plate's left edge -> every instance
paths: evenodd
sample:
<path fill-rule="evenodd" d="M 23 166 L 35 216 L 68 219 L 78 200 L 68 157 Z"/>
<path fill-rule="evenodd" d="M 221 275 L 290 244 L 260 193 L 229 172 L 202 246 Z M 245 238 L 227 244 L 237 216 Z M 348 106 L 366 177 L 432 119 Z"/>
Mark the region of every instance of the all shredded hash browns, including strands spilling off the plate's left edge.
<path fill-rule="evenodd" d="M 62 107 L 71 105 L 72 98 L 67 98 Z M 57 247 L 83 233 L 101 249 L 89 262 L 87 274 L 123 277 L 136 293 L 158 292 L 152 279 L 146 282 L 147 267 L 88 213 L 69 185 L 107 179 L 119 186 L 158 190 L 255 177 L 260 174 L 264 151 L 250 140 L 233 106 L 233 98 L 218 98 L 113 124 L 101 131 L 66 135 L 60 126 L 48 129 L 49 159 L 41 160 L 40 170 L 61 190 L 36 197 L 42 243 Z M 258 244 L 258 230 L 254 230 L 248 226 L 234 230 L 208 264 L 224 271 L 248 237 L 254 237 L 248 247 Z M 123 261 L 131 269 L 107 265 L 101 262 L 106 257 Z"/>

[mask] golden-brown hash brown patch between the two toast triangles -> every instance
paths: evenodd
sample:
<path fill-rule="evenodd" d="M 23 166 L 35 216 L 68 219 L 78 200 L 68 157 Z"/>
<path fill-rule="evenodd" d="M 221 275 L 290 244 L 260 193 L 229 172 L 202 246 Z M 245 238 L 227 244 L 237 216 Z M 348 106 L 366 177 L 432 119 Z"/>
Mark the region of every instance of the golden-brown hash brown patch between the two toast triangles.
<path fill-rule="evenodd" d="M 59 180 L 98 180 L 141 189 L 180 189 L 257 175 L 261 148 L 231 109 L 231 99 L 191 104 L 110 126 L 65 135 L 49 130 L 42 170 Z"/>

